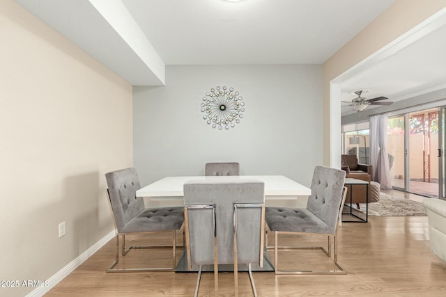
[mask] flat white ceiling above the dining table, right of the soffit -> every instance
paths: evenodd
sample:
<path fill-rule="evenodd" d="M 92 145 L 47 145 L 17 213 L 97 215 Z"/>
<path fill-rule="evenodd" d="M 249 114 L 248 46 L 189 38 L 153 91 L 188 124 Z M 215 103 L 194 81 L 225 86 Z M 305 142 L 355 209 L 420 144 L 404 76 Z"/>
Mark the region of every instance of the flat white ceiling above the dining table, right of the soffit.
<path fill-rule="evenodd" d="M 123 0 L 169 65 L 323 63 L 393 2 Z"/>

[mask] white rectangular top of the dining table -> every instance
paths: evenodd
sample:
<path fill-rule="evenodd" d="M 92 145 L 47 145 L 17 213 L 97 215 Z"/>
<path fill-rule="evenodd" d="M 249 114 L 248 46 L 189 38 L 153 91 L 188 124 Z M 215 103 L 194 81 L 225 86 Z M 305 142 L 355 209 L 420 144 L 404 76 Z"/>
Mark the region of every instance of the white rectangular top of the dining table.
<path fill-rule="evenodd" d="M 312 190 L 283 175 L 240 175 L 240 176 L 192 176 L 164 177 L 137 191 L 137 197 L 183 197 L 183 185 L 189 180 L 203 179 L 259 179 L 265 183 L 265 196 L 304 196 Z"/>

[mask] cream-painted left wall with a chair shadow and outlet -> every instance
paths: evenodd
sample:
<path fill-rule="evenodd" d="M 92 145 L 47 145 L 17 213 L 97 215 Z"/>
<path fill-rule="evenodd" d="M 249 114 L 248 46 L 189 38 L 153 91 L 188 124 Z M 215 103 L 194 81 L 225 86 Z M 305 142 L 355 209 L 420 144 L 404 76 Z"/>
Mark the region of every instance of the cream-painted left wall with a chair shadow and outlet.
<path fill-rule="evenodd" d="M 0 279 L 21 286 L 112 232 L 104 174 L 132 166 L 132 86 L 12 0 L 0 39 Z"/>

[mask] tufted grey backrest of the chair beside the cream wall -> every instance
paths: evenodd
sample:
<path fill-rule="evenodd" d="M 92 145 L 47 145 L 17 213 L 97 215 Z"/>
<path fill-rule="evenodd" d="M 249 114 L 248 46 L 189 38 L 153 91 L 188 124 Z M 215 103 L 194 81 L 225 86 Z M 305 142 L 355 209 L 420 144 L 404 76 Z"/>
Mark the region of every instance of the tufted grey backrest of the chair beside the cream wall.
<path fill-rule="evenodd" d="M 134 168 L 126 168 L 108 172 L 105 178 L 116 229 L 121 232 L 129 220 L 144 210 L 144 200 L 136 195 L 141 188 L 138 174 Z"/>

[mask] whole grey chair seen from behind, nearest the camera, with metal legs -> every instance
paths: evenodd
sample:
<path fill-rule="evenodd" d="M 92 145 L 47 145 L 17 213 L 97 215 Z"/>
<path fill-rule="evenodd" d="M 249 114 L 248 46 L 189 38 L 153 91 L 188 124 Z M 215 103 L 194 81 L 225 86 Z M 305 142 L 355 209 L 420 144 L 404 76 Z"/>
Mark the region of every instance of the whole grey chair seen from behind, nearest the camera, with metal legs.
<path fill-rule="evenodd" d="M 199 290 L 201 266 L 212 264 L 215 291 L 218 291 L 218 264 L 234 264 L 236 294 L 239 264 L 248 264 L 256 296 L 251 263 L 263 266 L 264 193 L 263 182 L 255 179 L 184 184 L 187 266 L 199 266 L 194 296 Z"/>

